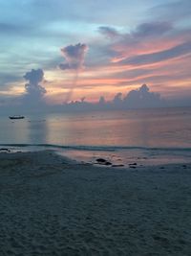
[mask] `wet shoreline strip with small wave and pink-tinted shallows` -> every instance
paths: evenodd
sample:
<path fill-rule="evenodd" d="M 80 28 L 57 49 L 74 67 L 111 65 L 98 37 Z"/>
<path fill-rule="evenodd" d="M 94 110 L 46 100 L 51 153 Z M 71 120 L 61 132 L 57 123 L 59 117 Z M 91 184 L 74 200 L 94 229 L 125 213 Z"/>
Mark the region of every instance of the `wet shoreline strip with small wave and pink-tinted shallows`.
<path fill-rule="evenodd" d="M 113 149 L 113 150 L 112 150 Z M 35 151 L 54 151 L 56 154 L 68 157 L 77 162 L 93 165 L 107 165 L 113 167 L 133 168 L 143 166 L 159 166 L 166 164 L 187 164 L 191 162 L 191 149 L 178 148 L 142 148 L 142 147 L 93 147 L 93 146 L 56 146 L 31 144 L 1 144 L 0 153 Z M 98 163 L 97 159 L 105 160 Z"/>

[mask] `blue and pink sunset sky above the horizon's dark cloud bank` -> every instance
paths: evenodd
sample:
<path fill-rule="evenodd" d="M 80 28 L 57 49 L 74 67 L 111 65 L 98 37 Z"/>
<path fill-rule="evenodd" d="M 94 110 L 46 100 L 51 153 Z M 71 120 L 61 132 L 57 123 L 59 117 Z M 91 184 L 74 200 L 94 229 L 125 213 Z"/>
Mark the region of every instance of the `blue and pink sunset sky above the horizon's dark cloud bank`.
<path fill-rule="evenodd" d="M 0 105 L 191 98 L 190 0 L 0 0 Z M 16 100 L 15 100 L 16 99 Z"/>

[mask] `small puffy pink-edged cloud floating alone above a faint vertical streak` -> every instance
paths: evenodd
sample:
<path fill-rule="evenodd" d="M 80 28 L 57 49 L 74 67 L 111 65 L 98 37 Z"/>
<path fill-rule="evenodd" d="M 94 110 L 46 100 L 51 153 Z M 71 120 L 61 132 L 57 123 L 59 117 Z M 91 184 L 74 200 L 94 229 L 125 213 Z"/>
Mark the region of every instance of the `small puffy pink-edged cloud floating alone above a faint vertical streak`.
<path fill-rule="evenodd" d="M 73 69 L 80 70 L 83 67 L 84 58 L 88 51 L 86 44 L 77 43 L 75 45 L 68 45 L 61 49 L 62 56 L 66 63 L 59 64 L 62 70 Z"/>

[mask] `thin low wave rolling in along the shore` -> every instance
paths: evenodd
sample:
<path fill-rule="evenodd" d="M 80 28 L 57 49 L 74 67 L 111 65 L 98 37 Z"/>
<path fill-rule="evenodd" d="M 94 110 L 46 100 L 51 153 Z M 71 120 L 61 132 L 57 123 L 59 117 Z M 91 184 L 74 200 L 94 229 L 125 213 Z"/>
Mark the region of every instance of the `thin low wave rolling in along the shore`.
<path fill-rule="evenodd" d="M 86 145 L 55 145 L 55 144 L 0 144 L 0 147 L 38 147 L 63 149 L 71 151 L 191 151 L 191 148 L 139 147 L 139 146 L 86 146 Z"/>

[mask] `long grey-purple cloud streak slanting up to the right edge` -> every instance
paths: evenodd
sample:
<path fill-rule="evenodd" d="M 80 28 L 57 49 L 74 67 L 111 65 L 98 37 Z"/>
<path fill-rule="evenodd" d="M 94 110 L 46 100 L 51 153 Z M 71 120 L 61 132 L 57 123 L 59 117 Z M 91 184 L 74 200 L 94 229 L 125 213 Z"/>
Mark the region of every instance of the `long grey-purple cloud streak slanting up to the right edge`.
<path fill-rule="evenodd" d="M 152 53 L 152 54 L 138 55 L 131 58 L 125 58 L 121 61 L 118 61 L 117 63 L 121 65 L 152 64 L 152 63 L 167 60 L 170 58 L 178 58 L 190 53 L 191 53 L 191 42 L 185 42 L 175 47 L 172 47 L 168 50 L 159 51 L 157 53 Z"/>

